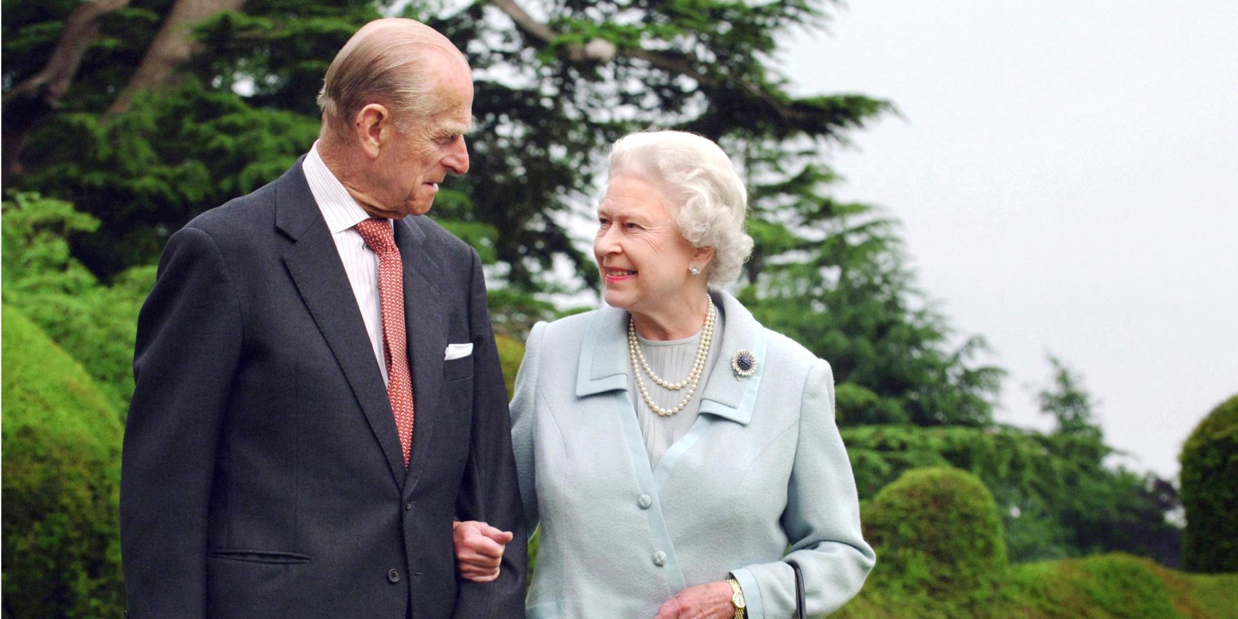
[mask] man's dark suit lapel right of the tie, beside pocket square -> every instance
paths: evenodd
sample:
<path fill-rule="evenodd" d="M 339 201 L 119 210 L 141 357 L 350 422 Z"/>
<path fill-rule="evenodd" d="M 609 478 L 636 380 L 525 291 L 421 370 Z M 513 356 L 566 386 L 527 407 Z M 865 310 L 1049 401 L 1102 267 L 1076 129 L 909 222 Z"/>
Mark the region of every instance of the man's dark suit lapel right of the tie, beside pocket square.
<path fill-rule="evenodd" d="M 404 313 L 412 368 L 413 430 L 406 483 L 416 485 L 431 452 L 435 425 L 442 416 L 443 352 L 447 349 L 447 307 L 430 274 L 442 266 L 426 251 L 420 218 L 395 222 L 395 243 L 404 261 Z"/>

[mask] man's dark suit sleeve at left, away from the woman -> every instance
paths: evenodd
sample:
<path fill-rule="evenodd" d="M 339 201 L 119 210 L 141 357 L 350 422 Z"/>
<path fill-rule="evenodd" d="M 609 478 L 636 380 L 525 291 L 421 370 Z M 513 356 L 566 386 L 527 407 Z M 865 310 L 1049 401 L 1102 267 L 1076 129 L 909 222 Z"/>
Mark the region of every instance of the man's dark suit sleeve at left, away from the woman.
<path fill-rule="evenodd" d="M 206 615 L 207 513 L 241 339 L 219 248 L 177 232 L 137 319 L 120 480 L 129 617 Z"/>

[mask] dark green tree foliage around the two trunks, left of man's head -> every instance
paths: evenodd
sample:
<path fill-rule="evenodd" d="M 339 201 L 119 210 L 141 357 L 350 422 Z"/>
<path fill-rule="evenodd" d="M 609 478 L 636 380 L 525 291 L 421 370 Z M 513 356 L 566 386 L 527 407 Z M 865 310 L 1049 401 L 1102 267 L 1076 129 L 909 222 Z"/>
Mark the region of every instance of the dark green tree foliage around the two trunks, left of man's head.
<path fill-rule="evenodd" d="M 6 89 L 42 68 L 79 2 L 11 2 L 12 11 L 9 4 Z M 327 63 L 360 25 L 380 16 L 368 0 L 248 1 L 244 14 L 217 15 L 197 30 L 204 51 L 182 67 L 176 84 L 139 93 L 128 111 L 105 115 L 171 4 L 135 0 L 100 21 L 62 105 L 26 140 L 26 173 L 10 180 L 102 222 L 94 234 L 74 239 L 73 250 L 108 280 L 154 264 L 171 232 L 270 182 L 308 150 Z"/>

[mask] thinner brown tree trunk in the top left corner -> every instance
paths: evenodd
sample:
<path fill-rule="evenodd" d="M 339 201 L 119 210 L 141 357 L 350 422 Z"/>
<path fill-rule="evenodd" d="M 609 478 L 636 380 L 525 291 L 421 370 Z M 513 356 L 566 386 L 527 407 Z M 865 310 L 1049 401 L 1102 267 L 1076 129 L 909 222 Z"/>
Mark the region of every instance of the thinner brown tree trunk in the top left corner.
<path fill-rule="evenodd" d="M 4 97 L 4 184 L 11 173 L 21 173 L 17 155 L 36 123 L 61 104 L 73 83 L 82 57 L 99 32 L 99 17 L 129 4 L 129 0 L 94 0 L 73 9 L 56 42 L 47 66 L 38 74 L 17 84 Z"/>

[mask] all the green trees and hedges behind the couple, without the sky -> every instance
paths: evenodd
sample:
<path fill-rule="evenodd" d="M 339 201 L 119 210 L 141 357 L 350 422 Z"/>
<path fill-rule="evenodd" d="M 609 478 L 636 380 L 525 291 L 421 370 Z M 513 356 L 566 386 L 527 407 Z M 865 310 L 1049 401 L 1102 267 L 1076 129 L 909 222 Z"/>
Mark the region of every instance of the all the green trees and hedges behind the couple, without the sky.
<path fill-rule="evenodd" d="M 399 14 L 474 68 L 472 170 L 433 217 L 488 264 L 509 389 L 535 321 L 597 303 L 572 229 L 592 220 L 607 146 L 696 131 L 750 188 L 756 250 L 737 295 L 834 369 L 881 557 L 842 614 L 1238 617 L 1238 397 L 1187 442 L 1180 487 L 1106 464 L 1093 397 L 1062 359 L 1039 395 L 1051 431 L 995 422 L 1003 370 L 984 339 L 957 338 L 916 287 L 889 214 L 831 197 L 825 154 L 894 105 L 792 97 L 773 62 L 782 35 L 833 10 L 5 0 L 4 615 L 120 614 L 119 446 L 160 250 L 306 152 L 334 51 Z"/>

